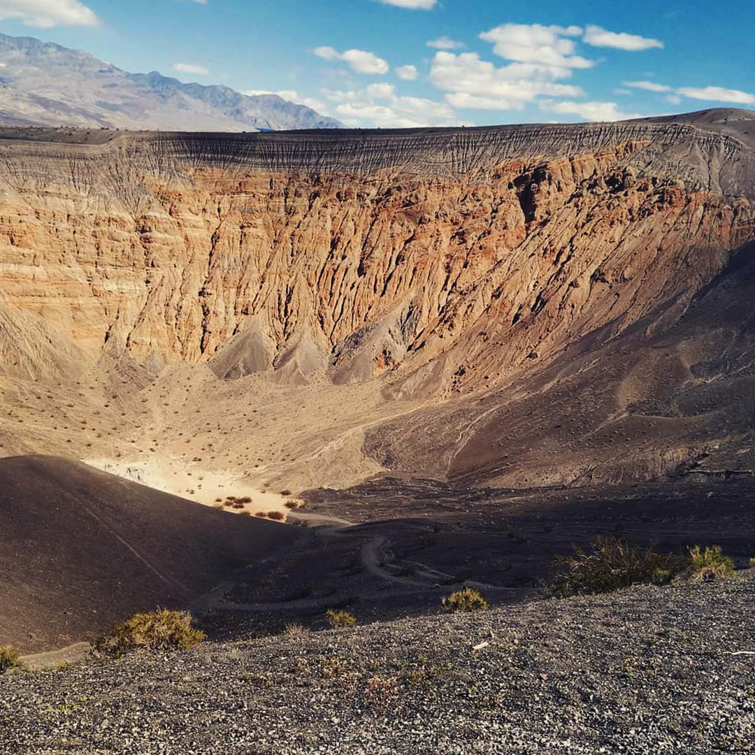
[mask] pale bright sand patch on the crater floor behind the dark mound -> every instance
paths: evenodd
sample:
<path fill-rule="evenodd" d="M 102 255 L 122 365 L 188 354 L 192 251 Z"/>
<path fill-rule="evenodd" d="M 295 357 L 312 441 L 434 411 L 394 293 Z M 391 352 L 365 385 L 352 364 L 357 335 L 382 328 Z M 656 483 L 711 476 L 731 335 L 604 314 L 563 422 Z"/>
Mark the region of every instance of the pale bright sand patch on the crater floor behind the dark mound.
<path fill-rule="evenodd" d="M 248 511 L 251 514 L 270 511 L 288 513 L 284 504 L 291 496 L 255 488 L 245 482 L 244 478 L 239 476 L 237 472 L 186 469 L 180 460 L 166 464 L 96 458 L 83 459 L 82 461 L 103 472 L 124 477 L 132 482 L 139 482 L 149 488 L 162 490 L 206 506 L 220 504 L 226 501 L 229 496 L 251 498 L 251 503 L 245 503 L 243 508 L 226 507 L 226 510 L 233 511 L 233 513 L 242 513 L 242 511 Z"/>

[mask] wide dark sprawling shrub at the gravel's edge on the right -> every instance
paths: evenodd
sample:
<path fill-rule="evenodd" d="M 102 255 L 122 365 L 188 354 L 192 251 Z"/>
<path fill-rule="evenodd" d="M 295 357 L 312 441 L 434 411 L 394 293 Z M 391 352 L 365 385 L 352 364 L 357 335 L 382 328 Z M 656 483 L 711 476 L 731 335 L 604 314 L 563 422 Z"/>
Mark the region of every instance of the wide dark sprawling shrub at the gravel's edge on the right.
<path fill-rule="evenodd" d="M 571 556 L 556 556 L 559 573 L 550 584 L 557 596 L 610 593 L 633 584 L 667 584 L 682 575 L 689 559 L 654 553 L 621 538 L 597 537 L 589 552 L 574 546 Z"/>

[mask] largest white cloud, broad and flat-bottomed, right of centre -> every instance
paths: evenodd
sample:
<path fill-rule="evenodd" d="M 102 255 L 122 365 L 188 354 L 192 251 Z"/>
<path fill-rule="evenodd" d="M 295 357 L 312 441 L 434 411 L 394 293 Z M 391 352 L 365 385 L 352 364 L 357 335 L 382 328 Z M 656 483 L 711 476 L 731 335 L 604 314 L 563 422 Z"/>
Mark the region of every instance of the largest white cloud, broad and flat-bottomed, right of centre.
<path fill-rule="evenodd" d="M 449 92 L 445 99 L 455 107 L 522 109 L 537 97 L 582 97 L 581 88 L 550 80 L 549 66 L 510 63 L 495 66 L 477 53 L 437 52 L 430 67 L 430 82 Z"/>

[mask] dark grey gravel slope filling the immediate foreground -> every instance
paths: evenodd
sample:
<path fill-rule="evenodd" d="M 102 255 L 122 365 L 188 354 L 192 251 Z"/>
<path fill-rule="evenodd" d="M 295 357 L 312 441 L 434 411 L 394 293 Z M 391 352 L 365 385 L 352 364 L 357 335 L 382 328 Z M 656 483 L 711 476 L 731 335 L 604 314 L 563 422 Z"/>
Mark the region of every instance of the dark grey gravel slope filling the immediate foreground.
<path fill-rule="evenodd" d="M 753 609 L 749 569 L 11 673 L 0 752 L 750 753 Z"/>

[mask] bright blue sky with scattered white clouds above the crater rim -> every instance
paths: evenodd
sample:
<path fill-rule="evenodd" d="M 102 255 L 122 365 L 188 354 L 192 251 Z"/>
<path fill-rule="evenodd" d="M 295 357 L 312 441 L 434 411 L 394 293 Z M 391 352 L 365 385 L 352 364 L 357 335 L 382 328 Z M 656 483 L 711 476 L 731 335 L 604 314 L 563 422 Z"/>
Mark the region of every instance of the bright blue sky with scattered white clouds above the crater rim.
<path fill-rule="evenodd" d="M 0 31 L 353 126 L 755 109 L 753 0 L 0 0 Z"/>

